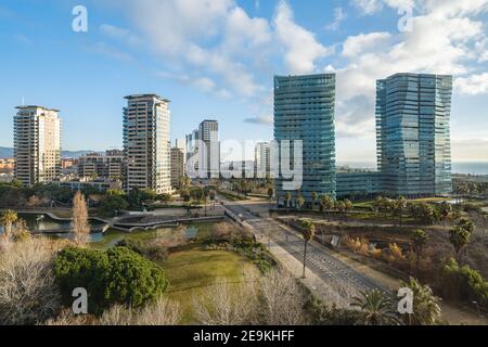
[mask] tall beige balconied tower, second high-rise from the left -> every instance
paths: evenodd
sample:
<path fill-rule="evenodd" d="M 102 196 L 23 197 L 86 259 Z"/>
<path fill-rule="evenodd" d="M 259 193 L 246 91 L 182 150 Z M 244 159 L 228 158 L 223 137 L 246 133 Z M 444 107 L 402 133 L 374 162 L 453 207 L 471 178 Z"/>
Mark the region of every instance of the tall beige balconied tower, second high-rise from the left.
<path fill-rule="evenodd" d="M 124 108 L 124 189 L 171 193 L 169 101 L 156 94 L 129 95 Z"/>

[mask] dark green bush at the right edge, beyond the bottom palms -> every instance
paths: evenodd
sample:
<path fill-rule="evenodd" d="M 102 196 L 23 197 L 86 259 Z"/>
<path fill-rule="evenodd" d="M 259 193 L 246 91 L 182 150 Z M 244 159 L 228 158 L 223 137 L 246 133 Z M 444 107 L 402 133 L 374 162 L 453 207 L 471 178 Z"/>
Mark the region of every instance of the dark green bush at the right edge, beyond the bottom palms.
<path fill-rule="evenodd" d="M 475 300 L 488 310 L 488 281 L 468 266 L 461 267 L 454 259 L 448 260 L 441 272 L 444 296 L 461 300 Z"/>

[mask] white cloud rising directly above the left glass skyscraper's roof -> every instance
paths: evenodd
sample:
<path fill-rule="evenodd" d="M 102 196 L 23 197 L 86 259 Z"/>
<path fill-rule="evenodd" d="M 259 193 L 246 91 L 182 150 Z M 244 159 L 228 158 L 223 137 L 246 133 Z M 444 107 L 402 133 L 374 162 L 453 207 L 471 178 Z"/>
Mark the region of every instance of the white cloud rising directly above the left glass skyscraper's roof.
<path fill-rule="evenodd" d="M 297 25 L 285 1 L 280 1 L 274 16 L 278 40 L 285 51 L 285 64 L 291 74 L 308 74 L 316 70 L 316 61 L 333 53 L 317 41 L 314 35 Z"/>

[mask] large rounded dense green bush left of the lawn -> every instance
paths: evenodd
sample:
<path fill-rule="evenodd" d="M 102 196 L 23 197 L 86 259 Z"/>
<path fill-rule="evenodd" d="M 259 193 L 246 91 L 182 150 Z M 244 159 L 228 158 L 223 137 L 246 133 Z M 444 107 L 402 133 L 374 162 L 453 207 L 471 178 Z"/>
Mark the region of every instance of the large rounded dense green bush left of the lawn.
<path fill-rule="evenodd" d="M 65 248 L 55 259 L 54 273 L 65 301 L 73 300 L 74 288 L 87 290 L 92 313 L 115 304 L 143 306 L 168 286 L 158 266 L 126 247 L 107 252 Z"/>

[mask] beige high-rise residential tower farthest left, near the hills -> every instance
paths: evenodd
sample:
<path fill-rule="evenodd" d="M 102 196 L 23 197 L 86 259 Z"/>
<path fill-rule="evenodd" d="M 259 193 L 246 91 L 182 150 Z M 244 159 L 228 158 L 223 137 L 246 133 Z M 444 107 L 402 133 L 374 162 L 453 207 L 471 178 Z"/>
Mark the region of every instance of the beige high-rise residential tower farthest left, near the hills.
<path fill-rule="evenodd" d="M 57 110 L 18 106 L 14 116 L 15 178 L 24 185 L 49 183 L 61 174 L 61 119 Z"/>

